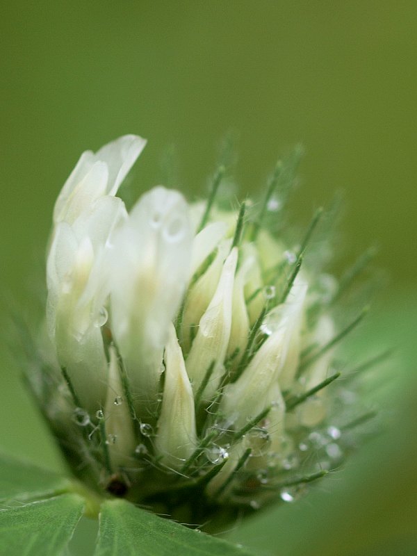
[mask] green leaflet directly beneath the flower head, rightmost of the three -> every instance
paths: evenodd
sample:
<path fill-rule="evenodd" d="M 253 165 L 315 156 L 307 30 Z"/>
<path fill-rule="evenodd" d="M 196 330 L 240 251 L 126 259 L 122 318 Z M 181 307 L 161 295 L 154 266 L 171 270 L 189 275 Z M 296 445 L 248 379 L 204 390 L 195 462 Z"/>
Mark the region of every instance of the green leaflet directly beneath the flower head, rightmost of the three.
<path fill-rule="evenodd" d="M 227 541 L 149 514 L 124 500 L 101 506 L 95 556 L 250 556 Z"/>

